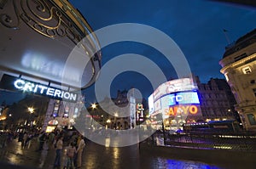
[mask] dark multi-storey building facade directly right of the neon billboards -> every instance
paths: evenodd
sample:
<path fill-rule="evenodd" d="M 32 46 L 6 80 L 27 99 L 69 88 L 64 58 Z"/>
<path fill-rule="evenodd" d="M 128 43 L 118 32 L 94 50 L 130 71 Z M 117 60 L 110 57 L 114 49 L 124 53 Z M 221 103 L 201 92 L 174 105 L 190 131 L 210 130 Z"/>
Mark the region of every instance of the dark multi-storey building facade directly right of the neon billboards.
<path fill-rule="evenodd" d="M 229 84 L 224 79 L 211 78 L 207 83 L 201 83 L 195 77 L 201 100 L 201 113 L 204 121 L 236 120 L 236 99 Z"/>

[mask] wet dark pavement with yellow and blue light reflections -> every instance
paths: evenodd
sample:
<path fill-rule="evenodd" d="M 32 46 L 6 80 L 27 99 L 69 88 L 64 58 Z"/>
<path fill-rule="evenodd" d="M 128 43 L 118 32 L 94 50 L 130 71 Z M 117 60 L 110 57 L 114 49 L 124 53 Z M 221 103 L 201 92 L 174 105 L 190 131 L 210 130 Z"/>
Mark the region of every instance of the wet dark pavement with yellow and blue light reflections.
<path fill-rule="evenodd" d="M 0 161 L 26 168 L 53 168 L 55 149 L 37 151 L 37 139 L 30 148 L 22 148 L 17 140 L 9 142 L 0 150 Z M 64 152 L 65 153 L 65 150 Z M 65 155 L 62 155 L 62 167 Z M 200 161 L 183 161 L 143 153 L 138 144 L 114 148 L 86 142 L 82 168 L 84 169 L 229 169 L 228 166 L 206 164 Z M 2 167 L 0 167 L 2 168 Z M 233 168 L 233 167 L 232 167 Z"/>

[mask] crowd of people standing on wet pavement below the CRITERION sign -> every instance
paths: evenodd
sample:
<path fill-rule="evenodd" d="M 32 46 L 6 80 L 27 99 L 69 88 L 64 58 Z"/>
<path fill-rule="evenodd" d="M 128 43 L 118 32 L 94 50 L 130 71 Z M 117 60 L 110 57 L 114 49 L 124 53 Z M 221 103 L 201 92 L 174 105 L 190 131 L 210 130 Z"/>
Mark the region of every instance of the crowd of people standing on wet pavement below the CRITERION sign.
<path fill-rule="evenodd" d="M 5 137 L 0 140 L 1 147 L 7 146 L 11 140 L 20 142 L 23 149 L 29 149 L 32 144 L 36 151 L 43 149 L 55 152 L 54 168 L 80 168 L 82 166 L 82 154 L 85 146 L 83 135 L 77 131 L 67 132 L 56 129 L 54 132 L 5 132 Z M 32 141 L 34 140 L 34 141 Z"/>

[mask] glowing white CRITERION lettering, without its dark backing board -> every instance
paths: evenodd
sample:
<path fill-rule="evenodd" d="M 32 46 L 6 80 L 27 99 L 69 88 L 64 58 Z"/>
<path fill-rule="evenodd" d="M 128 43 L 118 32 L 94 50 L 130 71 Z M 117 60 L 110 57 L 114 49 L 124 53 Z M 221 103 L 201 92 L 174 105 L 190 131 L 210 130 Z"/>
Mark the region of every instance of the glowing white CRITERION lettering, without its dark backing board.
<path fill-rule="evenodd" d="M 71 102 L 77 101 L 77 94 L 63 91 L 58 88 L 44 86 L 35 82 L 28 82 L 22 79 L 17 79 L 14 82 L 16 89 L 27 93 L 35 93 L 40 95 L 49 96 L 53 99 L 63 99 Z"/>

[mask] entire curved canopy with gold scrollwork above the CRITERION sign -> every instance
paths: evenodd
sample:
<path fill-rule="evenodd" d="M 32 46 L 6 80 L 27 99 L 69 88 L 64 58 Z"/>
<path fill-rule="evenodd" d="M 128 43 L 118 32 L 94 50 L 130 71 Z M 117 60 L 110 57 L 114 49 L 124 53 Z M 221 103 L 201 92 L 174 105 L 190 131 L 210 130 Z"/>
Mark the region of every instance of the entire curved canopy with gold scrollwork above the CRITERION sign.
<path fill-rule="evenodd" d="M 0 70 L 49 85 L 89 87 L 100 45 L 67 0 L 0 0 Z"/>

